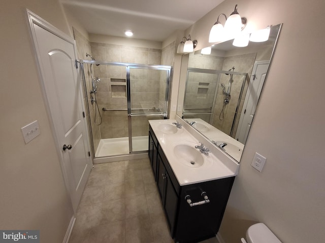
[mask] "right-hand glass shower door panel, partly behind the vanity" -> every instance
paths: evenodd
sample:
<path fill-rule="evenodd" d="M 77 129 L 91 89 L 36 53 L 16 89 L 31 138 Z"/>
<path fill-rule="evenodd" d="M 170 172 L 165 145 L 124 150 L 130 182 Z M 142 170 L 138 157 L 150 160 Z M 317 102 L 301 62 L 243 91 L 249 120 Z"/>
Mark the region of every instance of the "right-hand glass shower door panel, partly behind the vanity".
<path fill-rule="evenodd" d="M 132 152 L 148 150 L 148 120 L 167 116 L 170 73 L 169 66 L 129 67 L 127 91 Z"/>

